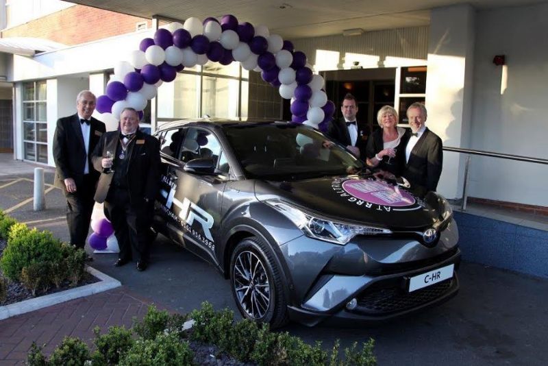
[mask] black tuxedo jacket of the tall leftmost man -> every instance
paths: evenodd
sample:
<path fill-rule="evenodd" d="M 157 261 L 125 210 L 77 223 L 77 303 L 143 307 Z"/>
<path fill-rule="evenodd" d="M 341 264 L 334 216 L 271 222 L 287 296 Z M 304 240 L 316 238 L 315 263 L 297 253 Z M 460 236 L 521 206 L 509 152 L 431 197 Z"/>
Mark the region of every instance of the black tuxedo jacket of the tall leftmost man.
<path fill-rule="evenodd" d="M 90 141 L 88 146 L 89 175 L 86 179 L 97 182 L 99 173 L 93 169 L 91 154 L 99 139 L 105 133 L 105 124 L 98 119 L 90 119 Z M 86 145 L 78 114 L 58 119 L 53 136 L 53 160 L 55 161 L 55 186 L 66 193 L 64 180 L 73 178 L 76 187 L 84 182 L 84 167 L 86 167 Z"/>

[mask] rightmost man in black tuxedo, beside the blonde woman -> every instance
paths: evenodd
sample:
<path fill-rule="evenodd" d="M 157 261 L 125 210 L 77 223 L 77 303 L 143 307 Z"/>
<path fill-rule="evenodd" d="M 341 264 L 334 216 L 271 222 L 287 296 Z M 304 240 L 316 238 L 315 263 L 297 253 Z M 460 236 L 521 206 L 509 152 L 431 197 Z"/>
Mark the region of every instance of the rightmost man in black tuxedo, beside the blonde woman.
<path fill-rule="evenodd" d="M 406 165 L 402 176 L 411 185 L 436 191 L 443 164 L 441 138 L 425 126 L 427 111 L 423 103 L 412 103 L 407 110 L 411 131 L 406 136 Z"/>

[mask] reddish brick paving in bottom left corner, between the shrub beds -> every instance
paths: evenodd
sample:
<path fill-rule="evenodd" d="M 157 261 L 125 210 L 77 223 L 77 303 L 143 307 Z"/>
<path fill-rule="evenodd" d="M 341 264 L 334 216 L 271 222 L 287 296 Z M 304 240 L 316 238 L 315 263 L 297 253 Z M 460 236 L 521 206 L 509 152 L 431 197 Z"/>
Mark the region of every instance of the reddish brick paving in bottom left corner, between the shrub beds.
<path fill-rule="evenodd" d="M 33 341 L 45 345 L 47 356 L 66 336 L 78 337 L 92 346 L 96 326 L 101 332 L 110 326 L 131 328 L 134 317 L 142 319 L 150 304 L 151 300 L 122 286 L 4 319 L 0 321 L 0 366 L 24 365 Z"/>

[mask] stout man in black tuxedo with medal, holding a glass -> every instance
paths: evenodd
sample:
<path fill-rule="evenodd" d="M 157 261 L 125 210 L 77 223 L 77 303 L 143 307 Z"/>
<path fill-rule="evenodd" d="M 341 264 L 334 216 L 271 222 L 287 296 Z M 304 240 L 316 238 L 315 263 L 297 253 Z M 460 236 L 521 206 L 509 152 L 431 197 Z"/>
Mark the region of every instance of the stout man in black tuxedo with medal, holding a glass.
<path fill-rule="evenodd" d="M 114 265 L 125 265 L 135 252 L 138 271 L 145 271 L 154 199 L 160 184 L 160 143 L 138 127 L 137 111 L 125 108 L 120 115 L 121 130 L 103 134 L 92 162 L 102 172 L 95 201 L 105 203 L 105 215 L 112 222 L 120 247 Z M 107 151 L 112 158 L 106 158 Z"/>

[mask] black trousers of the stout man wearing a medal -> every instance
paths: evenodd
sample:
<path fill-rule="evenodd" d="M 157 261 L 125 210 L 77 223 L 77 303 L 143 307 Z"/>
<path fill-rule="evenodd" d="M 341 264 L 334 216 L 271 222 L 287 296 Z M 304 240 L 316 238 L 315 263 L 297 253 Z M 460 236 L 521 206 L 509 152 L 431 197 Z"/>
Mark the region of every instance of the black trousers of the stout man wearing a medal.
<path fill-rule="evenodd" d="M 120 247 L 121 260 L 138 262 L 149 260 L 149 223 L 147 212 L 139 212 L 129 201 L 127 189 L 112 186 L 105 200 L 105 215 L 114 228 L 114 235 Z"/>

